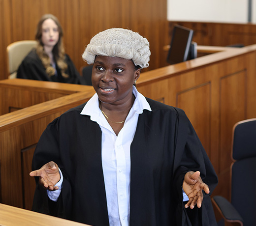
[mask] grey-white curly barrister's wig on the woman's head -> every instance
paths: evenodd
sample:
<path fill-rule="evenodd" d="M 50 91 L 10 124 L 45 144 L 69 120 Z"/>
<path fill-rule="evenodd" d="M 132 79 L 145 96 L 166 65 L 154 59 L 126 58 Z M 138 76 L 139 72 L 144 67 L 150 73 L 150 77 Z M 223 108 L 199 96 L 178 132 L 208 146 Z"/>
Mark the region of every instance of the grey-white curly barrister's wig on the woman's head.
<path fill-rule="evenodd" d="M 141 68 L 149 66 L 149 42 L 139 33 L 123 29 L 110 28 L 96 34 L 87 45 L 82 57 L 88 63 L 94 63 L 96 56 L 121 57 L 132 59 Z"/>

